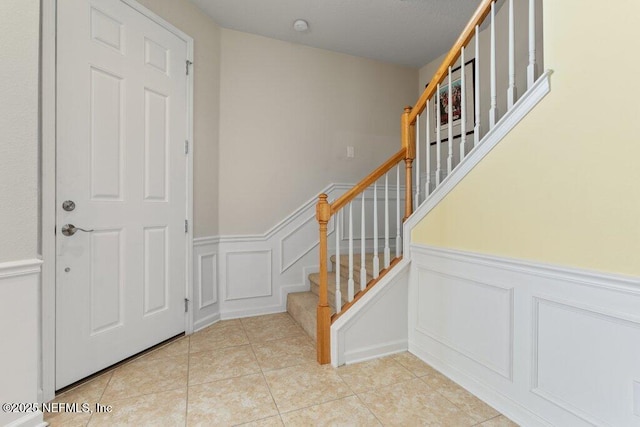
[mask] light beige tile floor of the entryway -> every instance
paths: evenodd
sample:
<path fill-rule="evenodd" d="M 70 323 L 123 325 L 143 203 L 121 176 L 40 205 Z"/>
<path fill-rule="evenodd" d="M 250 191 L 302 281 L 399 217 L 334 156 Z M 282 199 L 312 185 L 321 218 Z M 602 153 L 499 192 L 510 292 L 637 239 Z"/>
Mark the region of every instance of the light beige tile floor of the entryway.
<path fill-rule="evenodd" d="M 100 375 L 55 402 L 51 426 L 515 426 L 410 353 L 334 369 L 287 314 L 218 322 Z M 245 424 L 246 423 L 246 424 Z"/>

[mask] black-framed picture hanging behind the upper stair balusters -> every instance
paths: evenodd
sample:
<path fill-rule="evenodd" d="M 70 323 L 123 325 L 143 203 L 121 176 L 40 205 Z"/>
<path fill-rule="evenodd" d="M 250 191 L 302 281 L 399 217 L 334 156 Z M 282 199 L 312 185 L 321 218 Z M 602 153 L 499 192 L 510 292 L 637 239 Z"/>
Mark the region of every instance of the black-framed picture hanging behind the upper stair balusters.
<path fill-rule="evenodd" d="M 475 127 L 475 59 L 465 62 L 464 67 L 456 67 L 451 70 L 451 84 L 453 87 L 452 98 L 454 103 L 452 106 L 453 120 L 449 123 L 448 103 L 449 103 L 449 78 L 445 76 L 440 84 L 440 90 L 432 98 L 432 123 L 440 126 L 440 142 L 446 142 L 449 139 L 449 126 L 453 126 L 453 139 L 462 136 L 462 72 L 465 77 L 465 134 L 472 135 Z M 437 99 L 436 99 L 437 97 Z M 438 111 L 436 109 L 436 101 L 440 106 L 440 122 L 438 123 Z M 433 126 L 431 129 L 431 145 L 436 143 L 437 128 Z"/>

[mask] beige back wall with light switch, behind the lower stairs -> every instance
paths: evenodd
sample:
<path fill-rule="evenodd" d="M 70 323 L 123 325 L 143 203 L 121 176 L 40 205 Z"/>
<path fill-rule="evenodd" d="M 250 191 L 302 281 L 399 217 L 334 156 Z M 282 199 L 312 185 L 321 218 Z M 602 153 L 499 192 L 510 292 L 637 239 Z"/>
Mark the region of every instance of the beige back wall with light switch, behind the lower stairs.
<path fill-rule="evenodd" d="M 400 148 L 417 78 L 413 68 L 223 29 L 221 234 L 264 233 L 326 185 L 371 172 Z"/>

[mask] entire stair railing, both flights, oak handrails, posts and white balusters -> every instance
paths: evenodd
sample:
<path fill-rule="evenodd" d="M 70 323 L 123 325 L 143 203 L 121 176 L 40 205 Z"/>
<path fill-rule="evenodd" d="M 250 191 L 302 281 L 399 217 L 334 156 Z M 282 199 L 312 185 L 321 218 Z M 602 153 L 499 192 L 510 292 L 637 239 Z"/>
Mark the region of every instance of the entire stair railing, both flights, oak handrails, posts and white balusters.
<path fill-rule="evenodd" d="M 504 113 L 508 112 L 517 100 L 518 84 L 530 89 L 538 75 L 536 37 L 536 5 L 541 0 L 483 0 L 464 31 L 458 37 L 444 61 L 434 74 L 430 83 L 419 97 L 416 105 L 405 107 L 401 116 L 402 148 L 383 165 L 364 178 L 342 197 L 330 203 L 326 194 L 321 194 L 317 205 L 320 225 L 320 289 L 317 308 L 317 356 L 321 364 L 329 363 L 331 323 L 344 314 L 364 293 L 375 285 L 402 257 L 402 223 L 400 220 L 400 182 L 401 169 L 404 169 L 404 217 L 406 220 L 422 202 L 437 188 L 443 178 L 450 175 L 471 150 L 483 142 L 483 137 L 493 129 Z M 497 21 L 497 9 L 500 9 L 501 21 Z M 508 6 L 507 6 L 508 4 Z M 505 14 L 507 13 L 506 18 Z M 523 18 L 526 15 L 526 19 Z M 518 19 L 516 19 L 516 16 Z M 523 25 L 516 25 L 516 22 Z M 506 25 L 504 25 L 506 24 Z M 481 27 L 488 28 L 481 31 Z M 506 34 L 499 31 L 506 27 Z M 500 34 L 498 34 L 500 33 Z M 526 43 L 522 43 L 524 37 Z M 504 42 L 506 39 L 506 43 Z M 500 43 L 498 43 L 500 41 Z M 468 52 L 473 42 L 472 52 Z M 506 46 L 506 48 L 504 48 Z M 527 51 L 522 52 L 522 46 Z M 488 53 L 487 53 L 488 52 Z M 525 53 L 527 55 L 522 55 Z M 527 60 L 518 61 L 525 57 Z M 506 61 L 504 59 L 506 58 Z M 499 60 L 500 59 L 500 60 Z M 485 65 L 487 64 L 487 65 Z M 505 69 L 503 69 L 505 68 Z M 481 73 L 481 70 L 485 72 Z M 485 76 L 484 74 L 487 74 Z M 506 76 L 506 77 L 505 77 Z M 526 91 L 523 91 L 526 92 Z M 499 95 L 506 99 L 499 99 Z M 504 112 L 500 111 L 500 108 Z M 486 129 L 486 131 L 485 131 Z M 454 144 L 454 139 L 459 141 Z M 446 146 L 445 146 L 446 143 Z M 432 147 L 435 145 L 435 147 Z M 434 159 L 435 157 L 435 159 Z M 400 167 L 404 160 L 405 167 Z M 415 160 L 415 185 L 413 184 L 413 163 Z M 424 175 L 421 163 L 424 160 Z M 446 168 L 443 166 L 446 162 Z M 396 235 L 390 233 L 389 175 L 396 169 L 395 228 Z M 435 172 L 435 177 L 432 175 Z M 382 184 L 382 181 L 384 184 Z M 379 187 L 380 185 L 380 187 Z M 414 194 L 415 189 L 415 194 Z M 383 195 L 379 192 L 383 190 Z M 366 245 L 367 225 L 365 218 L 365 193 L 373 197 L 373 248 Z M 378 199 L 384 204 L 383 219 L 379 222 Z M 359 245 L 354 239 L 354 209 L 357 199 L 360 207 Z M 338 213 L 342 220 L 339 220 Z M 356 212 L 356 218 L 358 212 Z M 328 237 L 327 227 L 334 220 L 336 236 L 335 314 L 331 314 L 329 304 Z M 380 227 L 383 225 L 383 227 Z M 379 236 L 383 229 L 383 237 Z M 341 274 L 341 239 L 348 235 L 348 267 Z M 383 240 L 383 247 L 378 243 Z M 391 244 L 395 248 L 391 256 Z M 359 248 L 358 248 L 359 246 Z M 359 253 L 354 253 L 359 250 Z M 373 251 L 371 262 L 366 251 Z M 381 254 L 381 255 L 380 255 Z M 356 257 L 360 258 L 359 271 L 354 271 Z M 356 289 L 358 282 L 359 289 Z M 346 297 L 343 294 L 346 293 Z"/>

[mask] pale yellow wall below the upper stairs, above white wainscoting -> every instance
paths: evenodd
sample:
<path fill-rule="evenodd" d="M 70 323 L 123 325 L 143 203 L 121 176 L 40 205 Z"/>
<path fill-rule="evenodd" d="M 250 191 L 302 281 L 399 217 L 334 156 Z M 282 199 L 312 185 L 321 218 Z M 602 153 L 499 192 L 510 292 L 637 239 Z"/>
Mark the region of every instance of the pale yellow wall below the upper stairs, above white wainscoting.
<path fill-rule="evenodd" d="M 635 0 L 545 2 L 551 93 L 414 229 L 414 242 L 640 274 L 637 16 Z"/>

